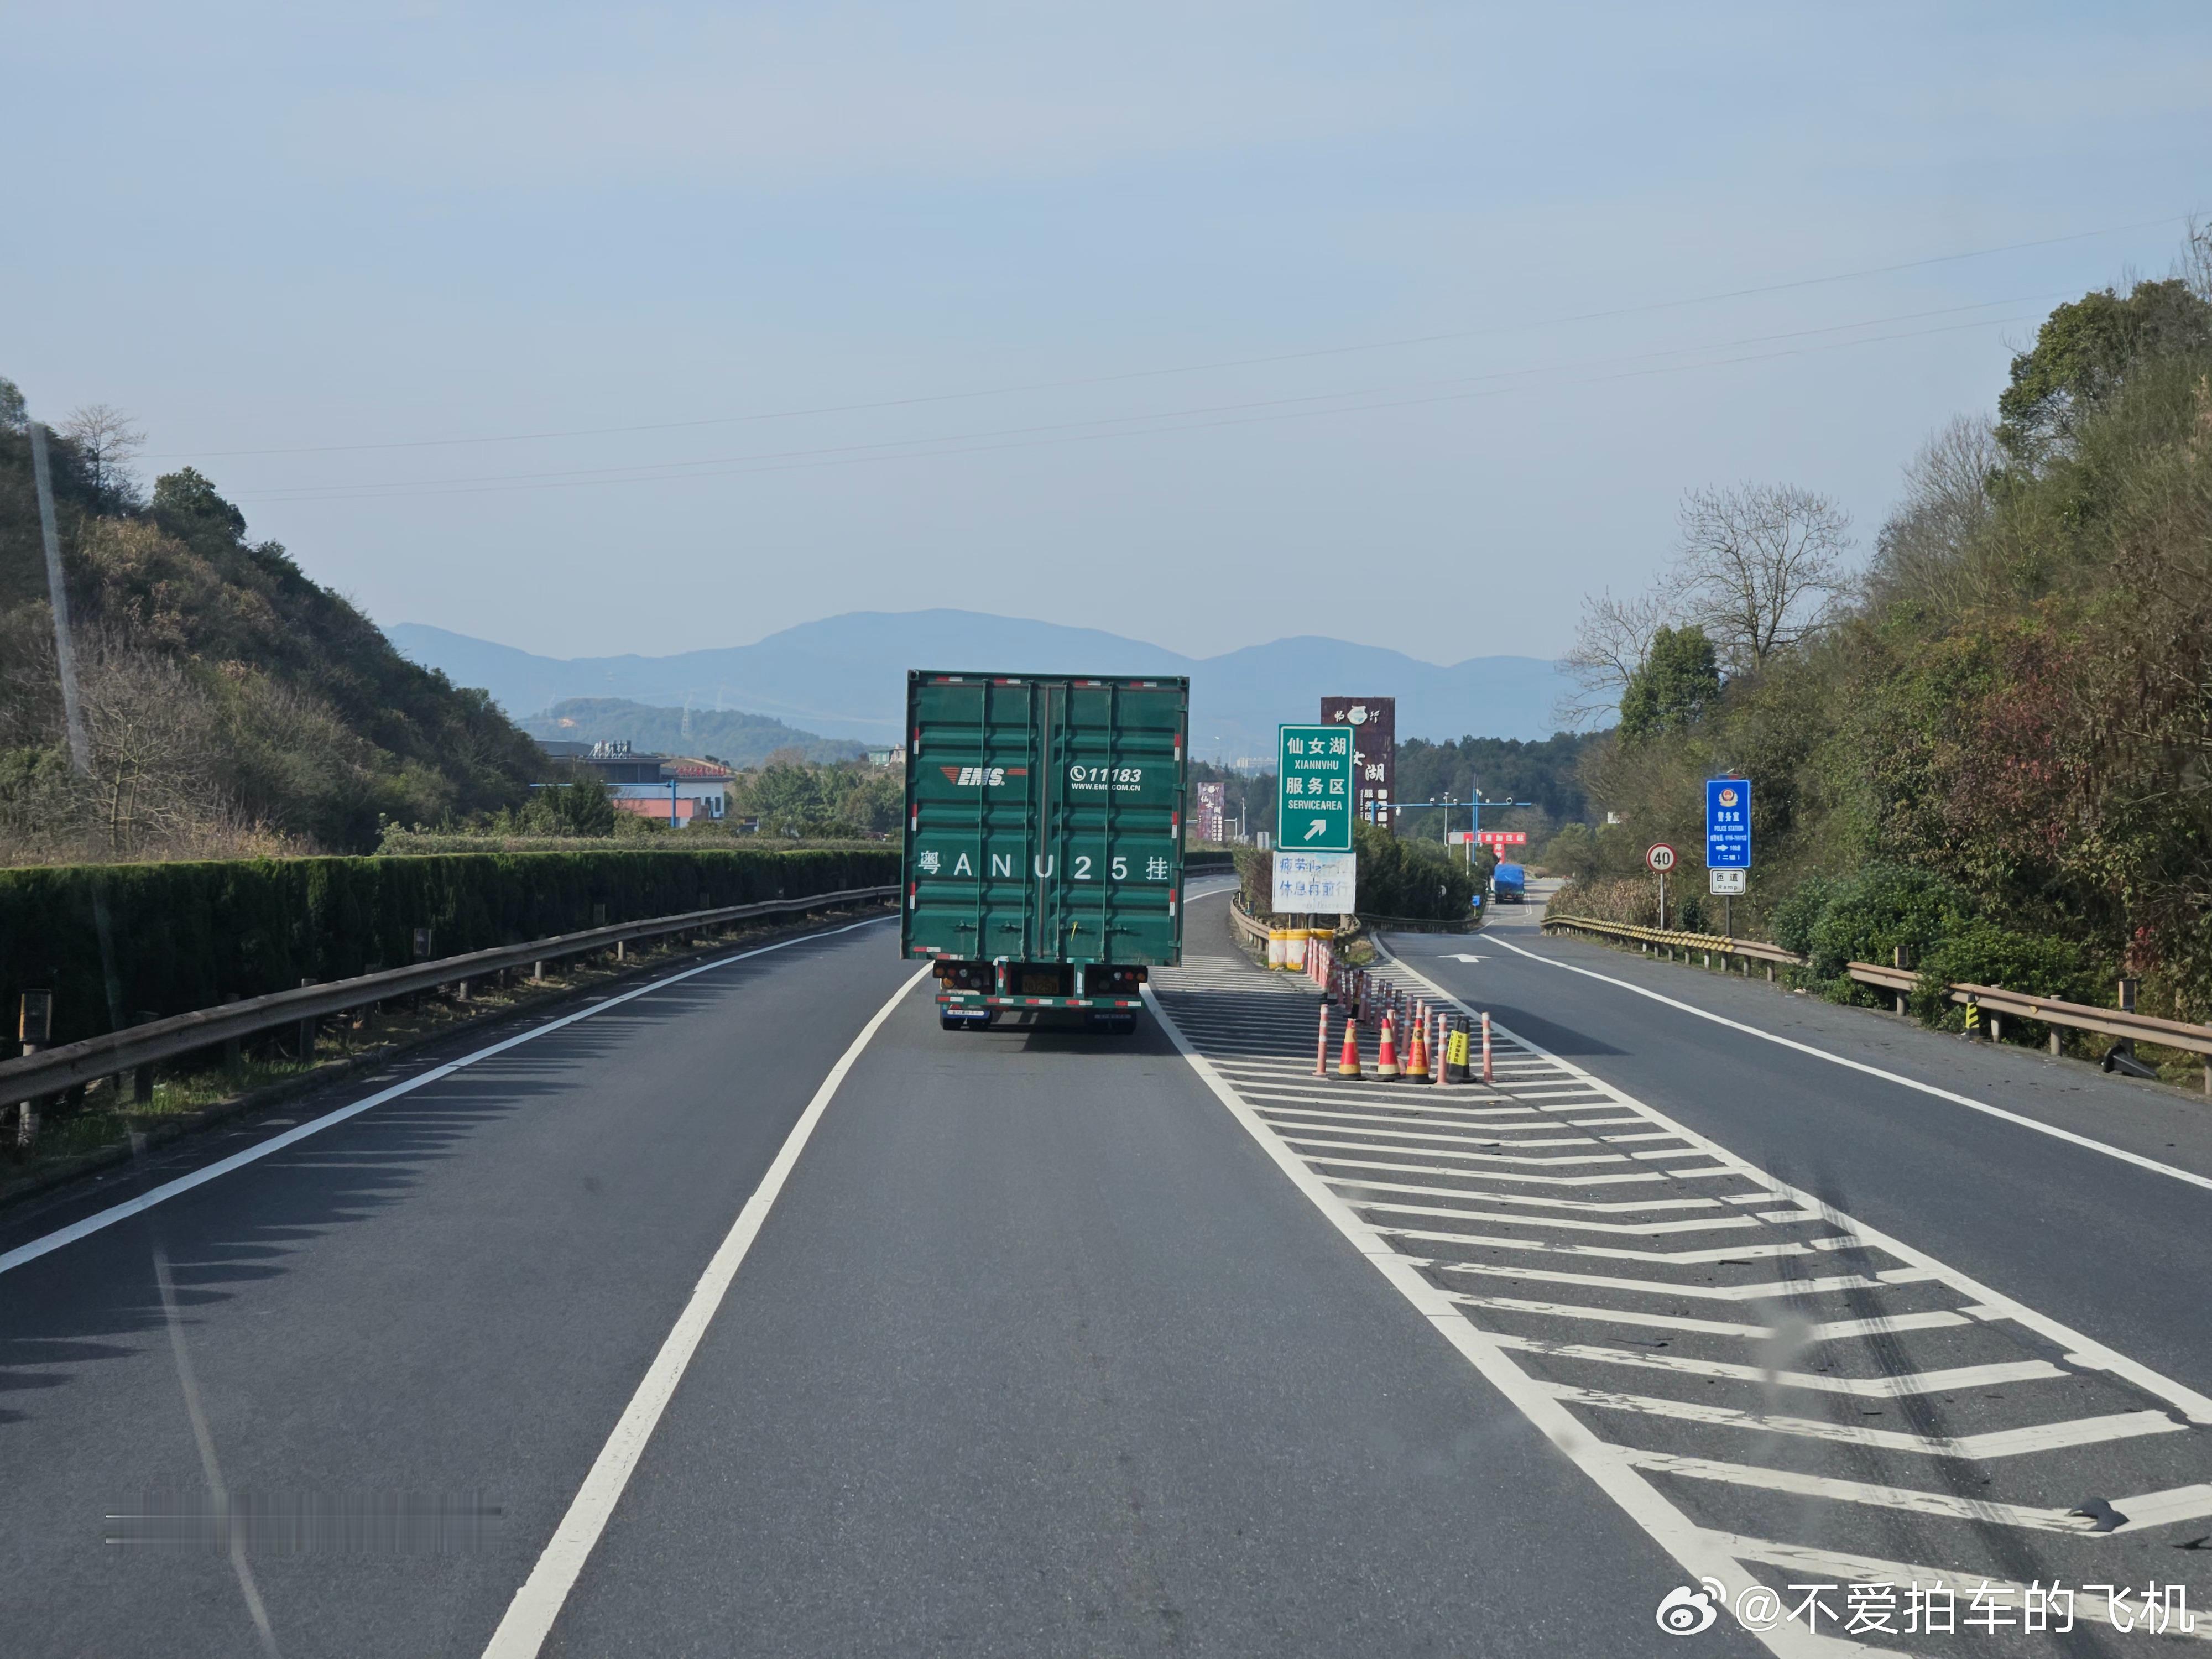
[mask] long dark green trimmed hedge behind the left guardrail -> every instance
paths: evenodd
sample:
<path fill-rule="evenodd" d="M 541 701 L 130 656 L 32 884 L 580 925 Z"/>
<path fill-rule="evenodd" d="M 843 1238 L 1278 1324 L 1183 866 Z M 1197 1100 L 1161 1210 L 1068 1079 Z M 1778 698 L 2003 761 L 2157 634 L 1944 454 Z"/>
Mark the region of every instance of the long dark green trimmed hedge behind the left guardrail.
<path fill-rule="evenodd" d="M 124 1022 L 347 980 L 604 922 L 898 880 L 880 852 L 484 852 L 0 869 L 0 1011 L 53 989 L 53 1040 L 108 1031 L 100 911 Z M 604 918 L 595 916 L 604 905 Z M 13 1042 L 7 1044 L 13 1053 Z"/>

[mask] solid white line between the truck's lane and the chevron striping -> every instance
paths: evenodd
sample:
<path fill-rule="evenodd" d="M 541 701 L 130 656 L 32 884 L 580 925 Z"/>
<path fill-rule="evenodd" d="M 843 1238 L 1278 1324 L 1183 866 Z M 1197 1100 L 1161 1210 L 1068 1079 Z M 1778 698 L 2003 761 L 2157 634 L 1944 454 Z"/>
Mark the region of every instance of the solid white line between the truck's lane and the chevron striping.
<path fill-rule="evenodd" d="M 1697 1526 L 1688 1515 L 1683 1515 L 1666 1495 L 1652 1486 L 1641 1473 L 1628 1467 L 1619 1447 L 1597 1440 L 1582 1422 L 1575 1420 L 1564 1405 L 1553 1400 L 1542 1385 L 1522 1371 L 1513 1360 L 1506 1358 L 1504 1349 L 1491 1343 L 1489 1334 L 1471 1325 L 1442 1290 L 1431 1285 L 1420 1276 L 1413 1263 L 1391 1250 L 1374 1228 L 1358 1219 L 1358 1214 L 1310 1170 L 1298 1161 L 1274 1133 L 1261 1121 L 1245 1104 L 1239 1099 L 1237 1091 L 1223 1082 L 1221 1073 L 1201 1055 L 1190 1040 L 1181 1033 L 1175 1020 L 1159 1006 L 1159 998 L 1152 995 L 1152 987 L 1144 987 L 1144 1000 L 1152 1009 L 1152 1018 L 1159 1029 L 1168 1033 L 1168 1042 L 1177 1046 L 1190 1068 L 1199 1075 L 1214 1099 L 1219 1099 L 1230 1117 L 1234 1117 L 1243 1130 L 1259 1144 L 1259 1148 L 1274 1161 L 1279 1170 L 1290 1179 L 1305 1199 L 1329 1219 L 1329 1223 L 1352 1241 L 1367 1261 L 1380 1272 L 1400 1296 L 1405 1296 L 1429 1325 L 1451 1343 L 1460 1356 L 1482 1374 L 1482 1378 L 1498 1389 L 1528 1422 L 1544 1433 L 1562 1453 L 1584 1475 L 1588 1475 L 1599 1491 L 1606 1493 L 1615 1504 L 1619 1504 L 1628 1517 L 1641 1526 L 1652 1542 L 1659 1544 L 1674 1562 L 1690 1575 L 1692 1582 L 1701 1577 L 1719 1579 L 1728 1588 L 1728 1601 L 1734 1604 L 1736 1595 L 1747 1590 L 1754 1579 L 1743 1566 L 1730 1557 L 1725 1551 L 1717 1548 L 1712 1535 Z M 1752 1630 L 1767 1650 L 1796 1659 L 1805 1655 L 1834 1655 L 1834 1652 L 1867 1652 L 1860 1644 L 1838 1641 L 1834 1637 L 1816 1637 L 1796 1626 L 1778 1626 L 1774 1630 Z M 487 1655 L 487 1659 L 491 1659 Z"/>

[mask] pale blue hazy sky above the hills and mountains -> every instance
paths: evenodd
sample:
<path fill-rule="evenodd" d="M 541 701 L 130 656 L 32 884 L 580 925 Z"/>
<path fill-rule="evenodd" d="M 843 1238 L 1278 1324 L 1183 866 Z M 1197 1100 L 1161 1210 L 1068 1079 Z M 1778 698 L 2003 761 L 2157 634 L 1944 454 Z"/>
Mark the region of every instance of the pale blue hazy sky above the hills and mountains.
<path fill-rule="evenodd" d="M 1553 655 L 1686 487 L 1871 540 L 2212 210 L 2201 4 L 80 0 L 7 62 L 0 374 L 553 655 Z"/>

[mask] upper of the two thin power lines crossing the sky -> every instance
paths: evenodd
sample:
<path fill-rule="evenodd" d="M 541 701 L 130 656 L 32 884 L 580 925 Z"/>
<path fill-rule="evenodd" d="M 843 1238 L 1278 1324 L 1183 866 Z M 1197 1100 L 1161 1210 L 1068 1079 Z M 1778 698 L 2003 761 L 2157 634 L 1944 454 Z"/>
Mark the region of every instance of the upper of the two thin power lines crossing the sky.
<path fill-rule="evenodd" d="M 1997 248 L 1971 248 L 1971 250 L 1953 252 L 1953 254 L 1931 254 L 1927 259 L 1905 259 L 1905 261 L 1898 261 L 1898 263 L 1891 263 L 1891 265 L 1867 265 L 1863 270 L 1832 272 L 1827 276 L 1798 276 L 1798 279 L 1785 281 L 1785 283 L 1761 283 L 1761 285 L 1754 285 L 1754 288 L 1730 288 L 1730 290 L 1723 290 L 1723 292 L 1717 292 L 1717 294 L 1692 294 L 1688 299 L 1648 301 L 1648 303 L 1641 303 L 1641 305 L 1617 305 L 1617 307 L 1595 310 L 1595 312 L 1568 312 L 1568 314 L 1559 314 L 1559 316 L 1531 319 L 1531 321 L 1522 321 L 1522 323 L 1498 323 L 1498 325 L 1491 325 L 1491 327 L 1475 327 L 1475 330 L 1449 330 L 1449 332 L 1442 332 L 1442 334 L 1407 334 L 1407 336 L 1387 338 L 1387 341 L 1363 341 L 1363 343 L 1356 343 L 1356 345 L 1323 345 L 1323 347 L 1312 347 L 1312 349 L 1305 349 L 1305 352 L 1276 352 L 1276 354 L 1267 354 L 1267 356 L 1217 358 L 1212 363 L 1179 363 L 1179 365 L 1172 365 L 1172 367 L 1124 369 L 1119 374 L 1093 374 L 1093 376 L 1064 378 L 1064 380 L 1029 380 L 1029 383 L 1020 383 L 1020 385 L 978 387 L 978 389 L 971 389 L 971 392 L 931 392 L 931 394 L 911 396 L 911 398 L 876 398 L 876 400 L 867 400 L 867 403 L 825 403 L 825 405 L 801 407 L 801 409 L 765 409 L 765 411 L 737 414 L 737 416 L 706 416 L 706 418 L 699 418 L 699 420 L 650 420 L 650 422 L 624 425 L 624 427 L 568 427 L 568 429 L 555 429 L 555 431 L 509 431 L 509 434 L 489 434 L 489 436 L 476 436 L 476 438 L 398 438 L 398 440 L 387 440 L 387 442 L 363 442 L 363 445 L 288 445 L 288 447 L 276 447 L 276 449 L 170 449 L 170 451 L 155 451 L 153 456 L 148 456 L 148 460 L 179 460 L 179 458 L 186 458 L 186 460 L 232 460 L 232 458 L 241 458 L 241 456 L 334 456 L 334 453 L 356 453 L 356 451 L 378 451 L 378 449 L 445 449 L 445 447 L 462 447 L 462 445 L 542 442 L 542 440 L 553 440 L 553 438 L 608 438 L 608 436 L 617 436 L 617 434 L 639 434 L 639 431 L 688 431 L 688 429 L 697 429 L 697 427 L 730 427 L 730 425 L 745 425 L 745 422 L 759 422 L 759 420 L 794 420 L 794 418 L 803 418 L 803 416 L 860 414 L 860 411 L 872 411 L 872 409 L 911 409 L 916 405 L 929 405 L 929 403 L 960 403 L 960 400 L 973 400 L 973 398 L 1004 398 L 1004 396 L 1018 396 L 1018 394 L 1024 394 L 1024 392 L 1062 392 L 1062 389 L 1073 389 L 1073 387 L 1117 385 L 1117 383 L 1124 383 L 1124 380 L 1146 380 L 1146 378 L 1159 378 L 1159 376 L 1172 376 L 1172 374 L 1206 374 L 1206 372 L 1212 372 L 1212 369 L 1245 369 L 1245 367 L 1261 367 L 1261 365 L 1270 365 L 1270 363 L 1305 363 L 1305 361 L 1312 361 L 1312 358 L 1347 356 L 1347 354 L 1356 354 L 1356 352 L 1387 352 L 1387 349 L 1396 349 L 1396 347 L 1405 347 L 1405 345 L 1442 345 L 1447 341 L 1471 341 L 1471 338 L 1484 338 L 1484 336 L 1493 336 L 1493 334 L 1511 334 L 1511 332 L 1531 330 L 1531 327 L 1562 327 L 1566 323 L 1599 323 L 1599 321 L 1610 321 L 1610 319 L 1619 319 L 1619 316 L 1646 316 L 1650 312 L 1686 310 L 1690 305 L 1719 305 L 1719 303 L 1732 301 L 1732 299 L 1754 299 L 1759 294 L 1783 294 L 1783 292 L 1798 290 L 1798 288 L 1820 288 L 1820 285 L 1829 285 L 1829 283 L 1849 283 L 1849 281 L 1860 281 L 1865 276 L 1891 276 L 1891 274 L 1905 272 L 1905 270 L 1924 270 L 1929 265 L 1949 265 L 1949 263 L 1958 263 L 1958 261 L 1964 261 L 1964 259 L 1989 259 L 1993 254 L 2022 252 L 2022 250 L 2028 250 L 2028 248 L 2055 248 L 2055 246 L 2062 246 L 2062 243 L 2068 243 L 2068 241 L 2090 241 L 2095 237 L 2117 237 L 2117 234 L 2124 234 L 2128 230 L 2146 230 L 2150 226 L 2172 226 L 2172 223 L 2188 223 L 2188 221 L 2190 221 L 2190 215 L 2161 215 L 2157 219 L 2137 219 L 2135 223 L 2106 226 L 2101 230 L 2073 230 L 2073 232 L 2066 232 L 2062 237 L 2037 237 L 2037 239 L 2031 239 L 2031 241 L 2002 243 Z"/>

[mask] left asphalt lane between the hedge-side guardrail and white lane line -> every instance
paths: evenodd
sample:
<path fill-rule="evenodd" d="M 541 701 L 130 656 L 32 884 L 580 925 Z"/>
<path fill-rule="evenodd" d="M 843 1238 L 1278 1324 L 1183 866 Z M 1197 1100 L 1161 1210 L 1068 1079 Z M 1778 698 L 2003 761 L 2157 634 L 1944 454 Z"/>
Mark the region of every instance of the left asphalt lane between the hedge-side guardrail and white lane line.
<path fill-rule="evenodd" d="M 276 1650 L 476 1652 L 823 1071 L 911 973 L 894 929 L 608 1006 L 0 1274 L 0 1650 L 257 1650 L 221 1551 L 102 1542 L 108 1513 L 206 1498 L 161 1248 L 234 1493 L 502 1511 L 451 1515 L 442 1546 L 427 1524 L 365 1544 L 323 1524 L 305 1555 L 257 1540 Z M 13 1217 L 0 1250 L 111 1201 Z"/>

